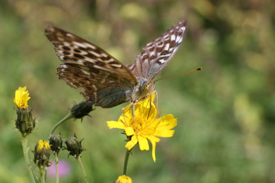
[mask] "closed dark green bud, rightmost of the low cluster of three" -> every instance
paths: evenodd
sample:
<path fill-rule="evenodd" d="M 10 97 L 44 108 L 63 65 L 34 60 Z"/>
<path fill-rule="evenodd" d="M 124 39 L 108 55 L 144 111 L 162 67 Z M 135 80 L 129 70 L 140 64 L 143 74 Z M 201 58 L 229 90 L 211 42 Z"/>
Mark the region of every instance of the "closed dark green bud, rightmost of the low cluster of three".
<path fill-rule="evenodd" d="M 74 156 L 74 157 L 77 157 L 77 156 L 80 156 L 81 157 L 81 153 L 83 151 L 86 151 L 86 149 L 84 149 L 81 145 L 81 142 L 84 140 L 84 138 L 79 142 L 78 139 L 77 139 L 77 136 L 75 134 L 75 136 L 73 137 L 70 137 L 68 139 L 65 139 L 65 144 L 67 145 L 67 148 L 64 148 L 64 149 L 67 149 L 68 150 L 68 157 L 71 155 L 71 156 Z M 63 150 L 64 150 L 63 149 Z"/>

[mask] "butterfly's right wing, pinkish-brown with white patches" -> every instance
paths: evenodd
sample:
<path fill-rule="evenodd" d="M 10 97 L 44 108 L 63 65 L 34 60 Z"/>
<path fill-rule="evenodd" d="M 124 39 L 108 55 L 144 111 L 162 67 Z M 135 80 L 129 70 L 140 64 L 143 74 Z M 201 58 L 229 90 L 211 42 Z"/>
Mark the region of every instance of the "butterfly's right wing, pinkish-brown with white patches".
<path fill-rule="evenodd" d="M 155 78 L 179 50 L 187 26 L 186 20 L 171 26 L 159 38 L 142 47 L 143 51 L 137 56 L 135 63 L 126 67 L 138 78 Z"/>

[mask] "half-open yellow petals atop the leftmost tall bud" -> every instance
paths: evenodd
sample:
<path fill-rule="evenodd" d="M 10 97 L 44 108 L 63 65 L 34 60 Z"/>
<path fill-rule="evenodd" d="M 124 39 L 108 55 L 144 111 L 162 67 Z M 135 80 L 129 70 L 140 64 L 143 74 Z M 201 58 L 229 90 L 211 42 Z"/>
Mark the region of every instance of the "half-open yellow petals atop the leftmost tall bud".
<path fill-rule="evenodd" d="M 20 108 L 27 108 L 27 101 L 30 99 L 28 97 L 29 93 L 26 91 L 27 86 L 25 87 L 19 87 L 18 90 L 15 91 L 15 98 L 13 102 L 17 105 L 18 109 Z"/>

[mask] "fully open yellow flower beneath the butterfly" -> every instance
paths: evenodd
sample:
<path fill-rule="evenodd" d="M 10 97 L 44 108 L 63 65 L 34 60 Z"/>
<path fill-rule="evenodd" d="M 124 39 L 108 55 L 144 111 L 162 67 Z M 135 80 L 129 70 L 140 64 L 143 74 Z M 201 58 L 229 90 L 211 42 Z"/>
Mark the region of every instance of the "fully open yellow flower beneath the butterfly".
<path fill-rule="evenodd" d="M 154 101 L 155 94 L 152 95 L 151 101 Z M 159 142 L 159 137 L 171 137 L 174 130 L 170 130 L 177 125 L 177 119 L 172 114 L 167 114 L 163 117 L 158 117 L 158 111 L 150 97 L 144 101 L 138 102 L 135 107 L 135 118 L 132 115 L 132 109 L 129 105 L 125 108 L 124 117 L 121 115 L 118 121 L 108 121 L 108 127 L 124 129 L 127 136 L 132 136 L 131 140 L 125 145 L 128 150 L 131 150 L 137 143 L 141 151 L 149 150 L 148 140 L 152 143 L 152 157 L 156 162 L 156 142 Z M 150 105 L 151 103 L 151 105 Z M 148 139 L 148 140 L 147 140 Z"/>

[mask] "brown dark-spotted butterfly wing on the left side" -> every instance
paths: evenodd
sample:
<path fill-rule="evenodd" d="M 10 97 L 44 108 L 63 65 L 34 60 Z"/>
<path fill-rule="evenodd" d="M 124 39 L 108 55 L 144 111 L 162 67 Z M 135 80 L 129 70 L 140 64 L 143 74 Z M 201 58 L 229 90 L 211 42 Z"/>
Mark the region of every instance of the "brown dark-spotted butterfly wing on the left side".
<path fill-rule="evenodd" d="M 47 26 L 46 36 L 55 46 L 58 58 L 64 62 L 57 75 L 81 94 L 90 105 L 110 108 L 127 101 L 126 92 L 138 84 L 137 78 L 118 60 L 84 39 Z"/>

